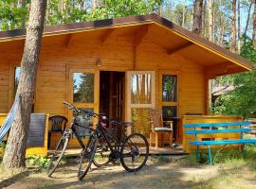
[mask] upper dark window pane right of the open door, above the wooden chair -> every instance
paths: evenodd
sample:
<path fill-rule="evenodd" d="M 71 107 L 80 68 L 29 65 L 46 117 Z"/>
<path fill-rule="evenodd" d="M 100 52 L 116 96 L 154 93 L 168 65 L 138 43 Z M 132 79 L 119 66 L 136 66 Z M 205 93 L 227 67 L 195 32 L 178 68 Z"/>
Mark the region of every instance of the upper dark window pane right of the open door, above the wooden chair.
<path fill-rule="evenodd" d="M 163 102 L 177 101 L 177 76 L 173 76 L 173 75 L 162 76 L 162 101 Z"/>

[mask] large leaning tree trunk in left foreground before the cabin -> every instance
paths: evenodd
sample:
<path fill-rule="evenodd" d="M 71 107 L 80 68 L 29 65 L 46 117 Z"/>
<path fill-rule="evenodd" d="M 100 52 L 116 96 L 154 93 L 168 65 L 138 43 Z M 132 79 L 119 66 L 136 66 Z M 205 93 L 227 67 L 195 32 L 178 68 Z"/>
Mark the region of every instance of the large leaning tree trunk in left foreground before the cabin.
<path fill-rule="evenodd" d="M 44 29 L 46 0 L 33 0 L 27 24 L 27 37 L 21 61 L 20 81 L 16 93 L 19 105 L 9 132 L 3 164 L 6 168 L 25 166 L 27 132 L 33 105 L 35 80 Z"/>

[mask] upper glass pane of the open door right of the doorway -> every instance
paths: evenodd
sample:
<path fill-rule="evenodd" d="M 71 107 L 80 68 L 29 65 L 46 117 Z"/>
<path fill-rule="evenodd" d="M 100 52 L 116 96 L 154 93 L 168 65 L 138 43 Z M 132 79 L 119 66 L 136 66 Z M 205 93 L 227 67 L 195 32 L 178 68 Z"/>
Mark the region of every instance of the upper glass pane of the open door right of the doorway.
<path fill-rule="evenodd" d="M 152 77 L 150 74 L 137 74 L 131 77 L 132 104 L 151 104 Z"/>

